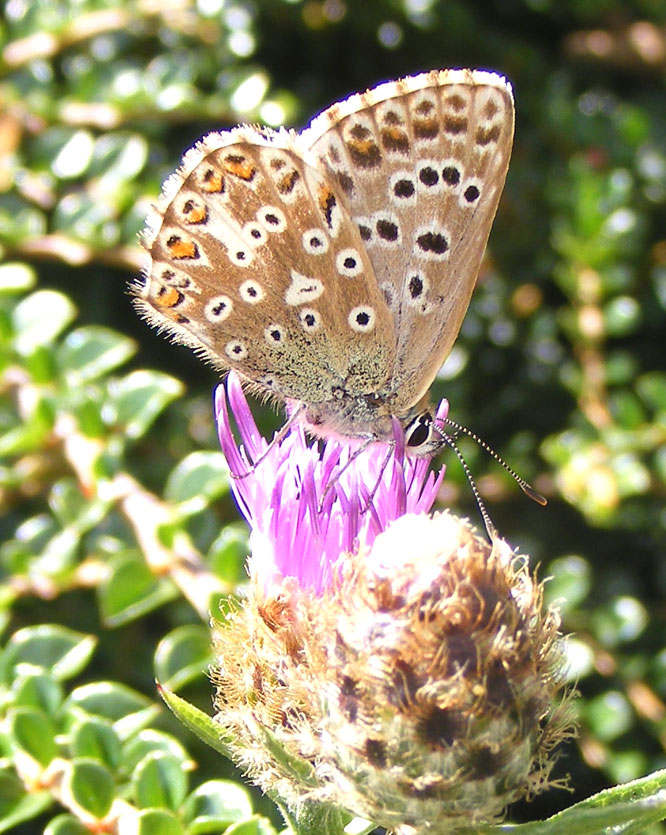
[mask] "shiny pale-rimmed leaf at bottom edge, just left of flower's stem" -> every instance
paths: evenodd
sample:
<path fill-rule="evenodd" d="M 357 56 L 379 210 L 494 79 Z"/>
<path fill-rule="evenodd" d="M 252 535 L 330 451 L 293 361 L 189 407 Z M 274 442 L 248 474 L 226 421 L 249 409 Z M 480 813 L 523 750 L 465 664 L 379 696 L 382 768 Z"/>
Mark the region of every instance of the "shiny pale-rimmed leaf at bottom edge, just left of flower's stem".
<path fill-rule="evenodd" d="M 231 780 L 209 780 L 198 786 L 183 804 L 183 819 L 188 832 L 202 835 L 219 832 L 236 821 L 252 817 L 247 790 Z"/>

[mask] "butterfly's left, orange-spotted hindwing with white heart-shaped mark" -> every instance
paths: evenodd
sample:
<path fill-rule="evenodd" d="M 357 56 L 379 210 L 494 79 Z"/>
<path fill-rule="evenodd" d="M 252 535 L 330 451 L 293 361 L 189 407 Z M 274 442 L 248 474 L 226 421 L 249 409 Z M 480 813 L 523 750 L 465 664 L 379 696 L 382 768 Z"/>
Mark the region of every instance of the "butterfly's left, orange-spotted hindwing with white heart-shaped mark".
<path fill-rule="evenodd" d="M 340 187 L 286 131 L 210 134 L 144 234 L 137 307 L 221 369 L 308 404 L 376 391 L 393 323 Z"/>

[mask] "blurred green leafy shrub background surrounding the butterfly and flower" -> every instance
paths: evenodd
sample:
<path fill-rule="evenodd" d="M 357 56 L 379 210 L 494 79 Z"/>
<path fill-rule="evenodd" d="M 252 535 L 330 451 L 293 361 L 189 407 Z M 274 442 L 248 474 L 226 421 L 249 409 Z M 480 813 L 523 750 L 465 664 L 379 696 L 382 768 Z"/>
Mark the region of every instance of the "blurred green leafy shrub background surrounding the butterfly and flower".
<path fill-rule="evenodd" d="M 144 815 L 145 832 L 271 831 L 250 803 L 279 826 L 254 793 L 198 788 L 238 775 L 158 707 L 155 676 L 209 709 L 206 613 L 243 581 L 247 543 L 217 452 L 215 375 L 130 305 L 137 236 L 203 133 L 240 121 L 301 127 L 351 92 L 458 66 L 511 79 L 517 133 L 479 286 L 435 393 L 548 496 L 546 509 L 533 505 L 461 441 L 497 527 L 553 577 L 582 694 L 580 737 L 559 765 L 573 795 L 551 791 L 512 819 L 666 764 L 663 4 L 9 0 L 0 831 L 85 831 L 81 804 L 100 817 L 113 797 L 164 812 L 157 823 Z M 279 423 L 270 411 L 262 419 Z M 443 503 L 475 515 L 446 463 Z M 101 708 L 104 682 L 132 691 L 113 690 Z M 148 735 L 139 756 L 146 729 L 159 744 Z M 88 732 L 95 745 L 81 742 Z M 46 767 L 56 751 L 69 794 L 43 775 L 31 784 L 21 765 L 27 753 Z M 198 770 L 162 797 L 155 786 L 178 783 L 190 757 Z"/>

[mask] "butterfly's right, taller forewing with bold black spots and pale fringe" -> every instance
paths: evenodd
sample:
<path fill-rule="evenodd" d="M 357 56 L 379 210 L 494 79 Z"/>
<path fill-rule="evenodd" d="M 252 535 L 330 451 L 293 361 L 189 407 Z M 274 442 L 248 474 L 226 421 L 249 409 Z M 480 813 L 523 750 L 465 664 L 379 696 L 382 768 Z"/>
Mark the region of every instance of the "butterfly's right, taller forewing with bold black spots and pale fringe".
<path fill-rule="evenodd" d="M 400 414 L 430 387 L 458 335 L 509 165 L 509 84 L 443 70 L 333 105 L 301 135 L 337 178 L 394 320 Z"/>

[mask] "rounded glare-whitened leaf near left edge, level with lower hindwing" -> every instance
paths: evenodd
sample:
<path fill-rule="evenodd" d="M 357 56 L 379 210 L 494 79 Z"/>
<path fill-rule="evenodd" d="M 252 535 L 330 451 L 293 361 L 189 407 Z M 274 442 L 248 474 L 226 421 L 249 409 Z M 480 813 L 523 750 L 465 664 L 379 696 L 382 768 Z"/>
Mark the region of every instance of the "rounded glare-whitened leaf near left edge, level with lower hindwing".
<path fill-rule="evenodd" d="M 63 293 L 37 290 L 14 308 L 14 347 L 27 356 L 51 343 L 76 316 L 76 308 Z"/>

